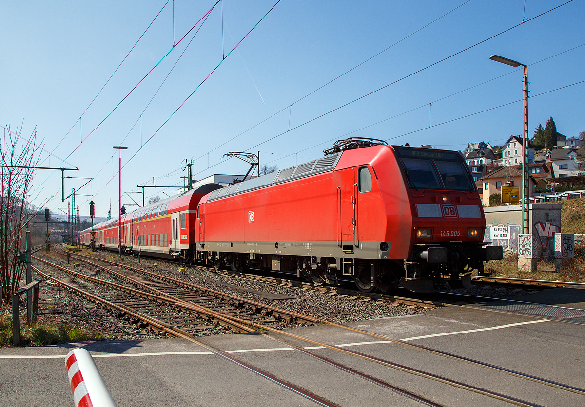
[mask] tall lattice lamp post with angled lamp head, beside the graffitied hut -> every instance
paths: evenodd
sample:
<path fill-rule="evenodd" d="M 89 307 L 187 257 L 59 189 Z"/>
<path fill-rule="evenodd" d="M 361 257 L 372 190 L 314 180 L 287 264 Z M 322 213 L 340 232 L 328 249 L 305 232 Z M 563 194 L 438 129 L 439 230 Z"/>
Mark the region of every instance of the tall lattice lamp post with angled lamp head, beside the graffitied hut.
<path fill-rule="evenodd" d="M 522 137 L 522 233 L 530 233 L 529 221 L 529 204 L 530 204 L 530 186 L 528 165 L 529 165 L 529 149 L 528 149 L 528 66 L 520 62 L 509 60 L 508 58 L 500 57 L 500 55 L 491 55 L 490 60 L 501 62 L 502 64 L 510 65 L 511 67 L 524 67 L 524 137 Z"/>

